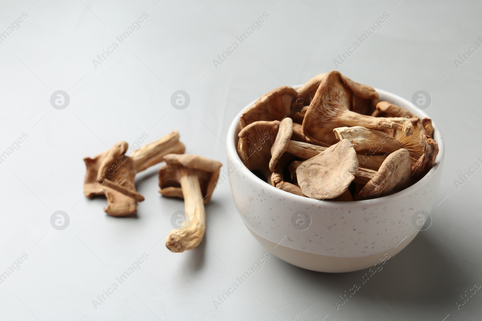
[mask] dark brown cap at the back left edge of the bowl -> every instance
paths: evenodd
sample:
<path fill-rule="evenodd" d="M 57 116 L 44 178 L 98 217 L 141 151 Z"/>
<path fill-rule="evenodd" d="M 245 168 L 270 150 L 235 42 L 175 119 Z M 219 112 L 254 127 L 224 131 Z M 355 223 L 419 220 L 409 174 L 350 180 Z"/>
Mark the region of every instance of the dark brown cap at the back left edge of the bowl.
<path fill-rule="evenodd" d="M 245 128 L 255 121 L 281 120 L 293 112 L 296 90 L 283 86 L 271 90 L 258 99 L 240 117 L 241 128 Z"/>

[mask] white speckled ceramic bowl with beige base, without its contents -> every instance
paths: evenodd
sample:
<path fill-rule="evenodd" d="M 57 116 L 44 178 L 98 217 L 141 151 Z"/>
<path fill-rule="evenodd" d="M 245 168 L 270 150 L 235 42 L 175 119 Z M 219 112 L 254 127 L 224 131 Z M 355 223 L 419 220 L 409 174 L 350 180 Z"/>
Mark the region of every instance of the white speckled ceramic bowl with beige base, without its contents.
<path fill-rule="evenodd" d="M 419 117 L 428 117 L 407 100 L 384 90 L 376 91 L 380 101 L 386 100 Z M 366 269 L 384 257 L 394 256 L 415 238 L 419 230 L 412 223 L 412 217 L 417 211 L 430 213 L 441 180 L 444 148 L 435 123 L 434 139 L 440 151 L 428 174 L 417 183 L 396 194 L 371 200 L 320 202 L 281 191 L 243 165 L 236 152 L 239 117 L 253 103 L 243 108 L 229 127 L 228 173 L 241 219 L 268 251 L 308 270 L 349 272 Z M 295 229 L 298 225 L 294 222 L 299 218 L 304 220 L 304 226 L 309 226 L 304 231 Z"/>

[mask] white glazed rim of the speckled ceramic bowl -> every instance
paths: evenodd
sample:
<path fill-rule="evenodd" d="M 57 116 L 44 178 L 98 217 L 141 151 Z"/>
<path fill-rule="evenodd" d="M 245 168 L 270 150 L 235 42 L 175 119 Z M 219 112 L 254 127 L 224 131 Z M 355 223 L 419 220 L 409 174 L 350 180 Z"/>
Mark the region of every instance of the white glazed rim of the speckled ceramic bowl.
<path fill-rule="evenodd" d="M 296 86 L 293 86 L 293 88 L 296 90 L 296 89 L 300 88 L 301 86 L 302 85 L 296 85 Z M 423 110 L 416 109 L 412 105 L 412 103 L 410 103 L 409 101 L 407 101 L 403 97 L 400 97 L 397 94 L 394 94 L 394 93 L 389 92 L 387 90 L 381 90 L 381 89 L 378 89 L 378 88 L 374 88 L 374 89 L 380 95 L 388 97 L 389 99 L 387 99 L 387 100 L 390 101 L 391 103 L 393 103 L 392 101 L 394 99 L 402 101 L 404 103 L 404 106 L 401 106 L 401 107 L 403 107 L 405 109 L 408 109 L 410 112 L 412 112 L 416 116 L 419 116 L 422 119 L 424 117 L 430 118 L 428 116 L 428 114 L 426 114 Z M 440 133 L 439 127 L 433 121 L 433 119 L 430 118 L 430 119 L 432 119 L 432 126 L 433 126 L 433 129 L 434 129 L 433 139 L 437 142 L 437 144 L 439 146 L 439 154 L 437 154 L 437 157 L 435 158 L 435 162 L 434 162 L 432 168 L 430 168 L 430 170 L 428 171 L 428 173 L 422 179 L 417 181 L 415 184 L 407 187 L 406 189 L 404 189 L 402 191 L 399 191 L 397 193 L 393 193 L 393 194 L 390 194 L 390 195 L 382 196 L 382 197 L 368 199 L 368 200 L 344 202 L 344 201 L 319 200 L 319 199 L 304 197 L 304 196 L 300 196 L 300 195 L 296 195 L 296 194 L 293 194 L 293 193 L 289 193 L 289 192 L 280 190 L 280 189 L 272 186 L 271 184 L 268 184 L 268 182 L 260 180 L 256 175 L 254 175 L 253 172 L 251 172 L 251 170 L 249 170 L 244 165 L 244 163 L 242 162 L 241 158 L 238 155 L 237 143 L 235 144 L 235 142 L 234 142 L 235 140 L 233 139 L 234 133 L 236 131 L 236 128 L 238 127 L 239 119 L 240 119 L 241 115 L 244 113 L 244 111 L 247 108 L 251 107 L 258 99 L 259 98 L 256 98 L 254 101 L 252 101 L 251 103 L 247 104 L 244 108 L 242 108 L 241 111 L 235 116 L 235 118 L 233 119 L 233 121 L 229 125 L 228 136 L 227 136 L 228 157 L 230 157 L 233 160 L 236 160 L 237 163 L 241 164 L 241 167 L 239 169 L 241 169 L 247 177 L 251 178 L 251 180 L 253 180 L 254 182 L 263 184 L 263 187 L 268 188 L 268 190 L 272 191 L 273 193 L 281 193 L 281 195 L 283 197 L 293 197 L 294 201 L 303 201 L 303 202 L 306 202 L 308 204 L 318 203 L 316 206 L 323 203 L 323 206 L 327 206 L 327 207 L 339 206 L 339 205 L 356 205 L 356 206 L 358 206 L 358 205 L 374 205 L 374 204 L 376 205 L 376 204 L 380 204 L 380 203 L 391 202 L 391 201 L 394 201 L 394 200 L 396 201 L 396 198 L 399 198 L 401 200 L 401 197 L 406 196 L 408 194 L 412 194 L 415 191 L 421 189 L 423 186 L 425 186 L 425 184 L 428 182 L 428 180 L 431 180 L 435 176 L 437 171 L 441 170 L 440 168 L 442 167 L 442 162 L 443 162 L 443 158 L 444 158 L 443 138 L 442 138 L 442 135 Z"/>

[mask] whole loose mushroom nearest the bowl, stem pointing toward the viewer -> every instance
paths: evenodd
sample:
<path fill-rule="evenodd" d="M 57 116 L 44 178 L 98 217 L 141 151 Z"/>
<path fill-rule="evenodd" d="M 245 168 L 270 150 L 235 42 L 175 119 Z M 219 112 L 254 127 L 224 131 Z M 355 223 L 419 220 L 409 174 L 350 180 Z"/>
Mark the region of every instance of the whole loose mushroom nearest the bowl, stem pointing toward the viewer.
<path fill-rule="evenodd" d="M 211 198 L 222 164 L 190 154 L 168 154 L 164 160 L 166 164 L 162 175 L 160 170 L 162 181 L 159 185 L 180 186 L 184 196 L 184 211 L 188 216 L 179 229 L 174 229 L 167 235 L 166 247 L 171 252 L 184 252 L 195 248 L 202 241 L 206 231 L 204 204 Z"/>

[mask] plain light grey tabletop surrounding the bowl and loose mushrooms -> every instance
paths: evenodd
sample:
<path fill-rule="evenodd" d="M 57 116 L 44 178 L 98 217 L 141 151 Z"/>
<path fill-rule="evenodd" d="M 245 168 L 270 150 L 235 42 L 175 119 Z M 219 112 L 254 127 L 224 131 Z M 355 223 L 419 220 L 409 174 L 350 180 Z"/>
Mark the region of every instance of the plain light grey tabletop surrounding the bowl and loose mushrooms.
<path fill-rule="evenodd" d="M 0 284 L 1 320 L 480 320 L 480 291 L 459 310 L 455 302 L 482 284 L 482 169 L 454 183 L 482 164 L 482 49 L 454 63 L 482 45 L 480 1 L 37 1 L 0 3 L 0 32 L 28 14 L 0 43 L 0 153 L 28 135 L 0 164 L 0 273 L 28 255 Z M 144 12 L 141 29 L 95 68 L 97 54 Z M 265 12 L 262 28 L 216 68 L 213 59 Z M 182 254 L 163 245 L 184 207 L 159 197 L 160 165 L 138 175 L 146 200 L 136 217 L 109 217 L 105 199 L 82 198 L 82 158 L 143 133 L 149 142 L 178 129 L 187 153 L 226 164 L 228 124 L 242 107 L 335 69 L 337 55 L 385 12 L 382 29 L 338 70 L 408 100 L 430 93 L 426 112 L 446 144 L 442 203 L 432 226 L 338 310 L 335 300 L 365 271 L 316 273 L 272 255 L 214 308 L 268 252 L 243 226 L 227 182 L 206 206 L 205 244 Z M 70 96 L 64 110 L 50 104 L 56 90 Z M 176 90 L 190 95 L 187 109 L 171 105 Z M 57 210 L 70 217 L 63 231 L 50 225 Z M 141 269 L 95 309 L 96 296 L 143 253 Z"/>

